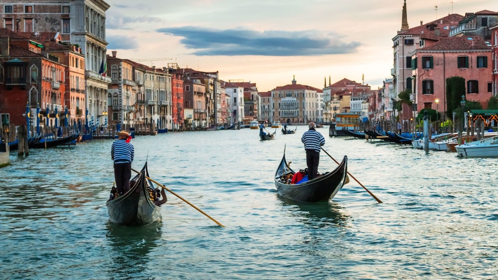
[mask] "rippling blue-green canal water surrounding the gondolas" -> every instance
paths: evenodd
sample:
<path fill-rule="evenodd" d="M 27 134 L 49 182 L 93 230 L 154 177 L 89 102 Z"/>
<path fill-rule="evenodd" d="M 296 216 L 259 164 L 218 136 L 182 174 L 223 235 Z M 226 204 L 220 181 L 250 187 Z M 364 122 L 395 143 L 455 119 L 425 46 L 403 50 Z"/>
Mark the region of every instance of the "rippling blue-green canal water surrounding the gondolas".
<path fill-rule="evenodd" d="M 285 149 L 305 167 L 300 141 L 259 130 L 139 136 L 133 168 L 168 194 L 161 219 L 109 222 L 112 140 L 10 154 L 0 169 L 1 279 L 497 279 L 496 158 L 459 158 L 381 140 L 329 138 L 350 178 L 328 203 L 279 197 Z M 267 130 L 273 132 L 274 129 Z M 337 164 L 322 152 L 320 172 Z"/>

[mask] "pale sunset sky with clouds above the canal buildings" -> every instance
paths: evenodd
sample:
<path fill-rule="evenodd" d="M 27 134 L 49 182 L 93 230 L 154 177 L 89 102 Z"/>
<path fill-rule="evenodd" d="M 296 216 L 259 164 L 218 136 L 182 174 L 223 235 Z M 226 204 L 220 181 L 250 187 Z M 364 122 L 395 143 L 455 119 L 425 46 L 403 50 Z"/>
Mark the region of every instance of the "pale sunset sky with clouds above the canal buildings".
<path fill-rule="evenodd" d="M 108 54 L 147 66 L 219 72 L 259 92 L 323 89 L 347 78 L 382 87 L 403 0 L 106 0 Z M 498 11 L 497 0 L 406 0 L 409 27 L 450 13 Z"/>

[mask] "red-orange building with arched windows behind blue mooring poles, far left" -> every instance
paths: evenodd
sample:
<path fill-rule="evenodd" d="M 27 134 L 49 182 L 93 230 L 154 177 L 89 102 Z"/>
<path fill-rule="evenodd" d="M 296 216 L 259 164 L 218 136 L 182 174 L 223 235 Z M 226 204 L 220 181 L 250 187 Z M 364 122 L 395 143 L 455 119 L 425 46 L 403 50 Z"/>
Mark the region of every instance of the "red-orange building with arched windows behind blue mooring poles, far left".
<path fill-rule="evenodd" d="M 42 55 L 42 48 L 28 35 L 0 29 L 0 114 L 14 126 L 29 125 L 30 132 L 60 126 L 65 116 L 66 66 Z"/>

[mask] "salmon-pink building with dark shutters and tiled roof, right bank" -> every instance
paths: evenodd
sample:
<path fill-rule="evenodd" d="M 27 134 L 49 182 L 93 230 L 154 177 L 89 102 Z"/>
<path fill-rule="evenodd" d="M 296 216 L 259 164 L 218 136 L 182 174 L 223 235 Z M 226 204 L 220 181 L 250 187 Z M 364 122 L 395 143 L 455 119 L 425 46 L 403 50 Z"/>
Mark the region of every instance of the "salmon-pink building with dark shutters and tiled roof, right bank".
<path fill-rule="evenodd" d="M 437 42 L 417 49 L 413 56 L 415 104 L 445 114 L 446 79 L 466 80 L 466 100 L 480 102 L 484 108 L 492 96 L 491 43 L 481 36 L 440 37 Z M 440 103 L 442 106 L 439 106 Z"/>

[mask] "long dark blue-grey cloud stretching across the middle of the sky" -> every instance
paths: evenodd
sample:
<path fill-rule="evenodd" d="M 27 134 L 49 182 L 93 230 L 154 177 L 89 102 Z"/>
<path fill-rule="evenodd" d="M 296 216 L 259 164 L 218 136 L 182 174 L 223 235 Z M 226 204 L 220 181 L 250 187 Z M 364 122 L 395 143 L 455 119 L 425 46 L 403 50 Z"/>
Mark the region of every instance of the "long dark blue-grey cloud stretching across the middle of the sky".
<path fill-rule="evenodd" d="M 197 26 L 166 27 L 157 32 L 183 37 L 180 42 L 193 49 L 192 54 L 208 55 L 263 55 L 312 56 L 354 53 L 360 42 L 346 43 L 342 36 L 318 30 L 254 31 L 249 29 L 212 29 Z"/>

